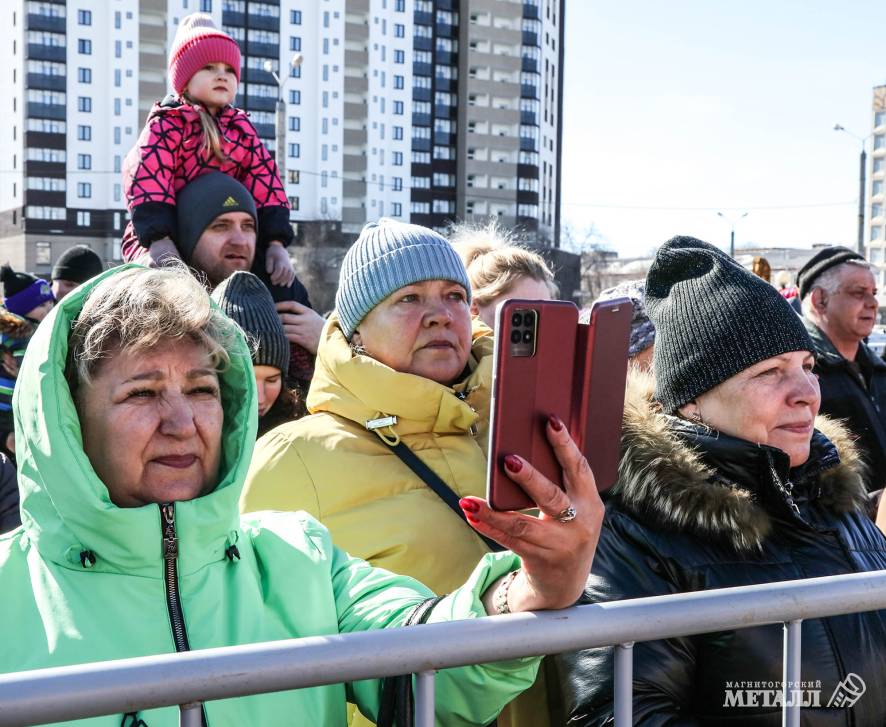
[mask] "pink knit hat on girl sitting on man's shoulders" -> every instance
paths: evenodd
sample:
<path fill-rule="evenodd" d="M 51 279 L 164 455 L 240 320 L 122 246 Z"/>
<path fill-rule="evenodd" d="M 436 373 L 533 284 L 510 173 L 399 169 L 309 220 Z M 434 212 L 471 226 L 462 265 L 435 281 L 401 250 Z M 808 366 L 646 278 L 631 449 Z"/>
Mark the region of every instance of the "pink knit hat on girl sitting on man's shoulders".
<path fill-rule="evenodd" d="M 169 78 L 176 93 L 209 63 L 227 63 L 240 83 L 240 46 L 230 35 L 215 27 L 206 13 L 182 18 L 169 52 Z"/>

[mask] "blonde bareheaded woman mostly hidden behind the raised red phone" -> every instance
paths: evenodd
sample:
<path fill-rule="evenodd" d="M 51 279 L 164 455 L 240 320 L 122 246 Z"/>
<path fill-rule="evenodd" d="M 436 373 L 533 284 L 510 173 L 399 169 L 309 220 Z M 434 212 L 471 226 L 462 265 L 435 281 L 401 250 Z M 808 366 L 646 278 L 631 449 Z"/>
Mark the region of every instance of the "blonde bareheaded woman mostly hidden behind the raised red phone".
<path fill-rule="evenodd" d="M 519 247 L 495 221 L 483 227 L 456 225 L 449 241 L 468 271 L 471 314 L 492 329 L 495 308 L 503 300 L 551 300 L 558 294 L 554 274 L 541 255 Z"/>

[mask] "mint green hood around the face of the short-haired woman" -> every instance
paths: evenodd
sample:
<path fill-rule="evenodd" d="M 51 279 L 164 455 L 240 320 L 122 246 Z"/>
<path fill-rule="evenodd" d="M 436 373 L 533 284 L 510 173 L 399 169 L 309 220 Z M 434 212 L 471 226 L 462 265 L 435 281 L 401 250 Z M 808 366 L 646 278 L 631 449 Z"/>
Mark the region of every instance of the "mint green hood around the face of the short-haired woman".
<path fill-rule="evenodd" d="M 71 324 L 110 270 L 67 295 L 37 328 L 19 372 L 13 410 L 22 527 L 43 558 L 82 568 L 92 551 L 94 570 L 159 577 L 160 513 L 156 505 L 119 508 L 83 451 L 80 422 L 64 376 Z M 249 348 L 238 335 L 220 376 L 224 426 L 219 483 L 197 500 L 176 503 L 182 547 L 179 569 L 194 572 L 224 557 L 237 538 L 237 503 L 252 457 L 258 423 Z"/>

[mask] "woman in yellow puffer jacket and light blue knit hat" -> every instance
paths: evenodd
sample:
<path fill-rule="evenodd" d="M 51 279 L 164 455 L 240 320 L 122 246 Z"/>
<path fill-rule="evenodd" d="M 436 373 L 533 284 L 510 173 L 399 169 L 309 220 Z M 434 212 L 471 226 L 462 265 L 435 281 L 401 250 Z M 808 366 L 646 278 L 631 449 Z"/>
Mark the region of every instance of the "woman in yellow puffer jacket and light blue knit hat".
<path fill-rule="evenodd" d="M 342 264 L 311 414 L 258 441 L 241 508 L 305 510 L 375 566 L 437 593 L 463 583 L 488 546 L 392 445 L 459 498 L 484 496 L 491 334 L 472 328 L 467 274 L 444 238 L 394 220 L 367 225 Z M 498 724 L 547 724 L 539 691 Z"/>

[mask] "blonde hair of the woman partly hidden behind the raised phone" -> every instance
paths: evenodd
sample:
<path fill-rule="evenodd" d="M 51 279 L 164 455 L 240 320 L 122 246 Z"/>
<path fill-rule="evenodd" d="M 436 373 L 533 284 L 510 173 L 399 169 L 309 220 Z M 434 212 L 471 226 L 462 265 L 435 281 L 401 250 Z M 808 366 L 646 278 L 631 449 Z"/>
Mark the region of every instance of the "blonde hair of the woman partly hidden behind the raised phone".
<path fill-rule="evenodd" d="M 520 278 L 545 283 L 557 297 L 554 274 L 541 255 L 520 247 L 514 235 L 492 220 L 485 225 L 454 225 L 449 241 L 468 271 L 474 300 L 487 305 L 507 293 Z"/>

